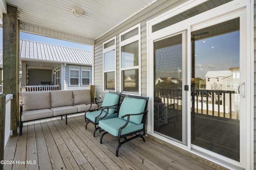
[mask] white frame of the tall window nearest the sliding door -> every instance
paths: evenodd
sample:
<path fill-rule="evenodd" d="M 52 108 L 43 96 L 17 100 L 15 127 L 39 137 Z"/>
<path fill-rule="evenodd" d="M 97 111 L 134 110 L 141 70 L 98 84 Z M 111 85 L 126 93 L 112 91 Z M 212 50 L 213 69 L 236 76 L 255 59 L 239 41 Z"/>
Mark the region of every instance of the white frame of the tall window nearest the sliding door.
<path fill-rule="evenodd" d="M 121 41 L 121 37 L 122 35 L 124 35 L 125 33 L 128 33 L 129 31 L 132 31 L 133 29 L 137 28 L 138 27 L 138 35 L 135 35 L 133 37 L 130 37 L 124 41 Z M 122 92 L 122 94 L 132 94 L 132 95 L 138 95 L 138 96 L 141 96 L 141 26 L 140 26 L 140 23 L 137 24 L 137 25 L 134 25 L 133 27 L 127 29 L 126 31 L 122 32 L 119 34 L 119 65 L 120 65 L 120 91 Z M 130 44 L 130 43 L 133 43 L 134 41 L 138 41 L 138 51 L 139 51 L 139 54 L 138 54 L 138 60 L 139 60 L 139 63 L 138 63 L 138 66 L 130 66 L 130 67 L 125 67 L 125 68 L 121 68 L 121 65 L 122 65 L 122 61 L 121 61 L 121 48 L 122 46 L 124 45 L 127 45 L 127 44 Z M 122 71 L 124 70 L 133 70 L 133 69 L 138 69 L 138 72 L 139 72 L 139 87 L 138 87 L 138 92 L 126 92 L 126 91 L 123 91 L 123 87 L 122 87 L 122 84 L 123 84 L 123 77 L 122 77 Z"/>

